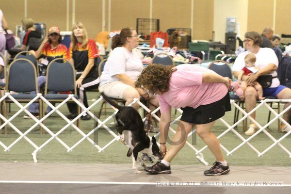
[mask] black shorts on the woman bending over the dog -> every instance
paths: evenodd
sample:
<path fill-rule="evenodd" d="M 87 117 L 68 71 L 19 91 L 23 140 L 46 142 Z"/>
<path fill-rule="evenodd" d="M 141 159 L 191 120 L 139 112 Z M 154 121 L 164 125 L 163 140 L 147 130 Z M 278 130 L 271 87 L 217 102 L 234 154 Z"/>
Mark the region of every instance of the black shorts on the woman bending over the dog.
<path fill-rule="evenodd" d="M 230 97 L 227 92 L 222 99 L 211 104 L 201 105 L 197 108 L 185 107 L 181 121 L 193 124 L 206 124 L 215 121 L 225 115 L 226 111 L 231 111 Z"/>

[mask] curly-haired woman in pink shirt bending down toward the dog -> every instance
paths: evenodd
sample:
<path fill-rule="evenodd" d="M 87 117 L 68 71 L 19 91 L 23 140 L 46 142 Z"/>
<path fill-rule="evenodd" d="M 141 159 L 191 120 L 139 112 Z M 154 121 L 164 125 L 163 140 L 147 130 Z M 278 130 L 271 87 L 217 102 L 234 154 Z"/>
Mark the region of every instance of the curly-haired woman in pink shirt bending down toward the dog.
<path fill-rule="evenodd" d="M 205 175 L 219 176 L 230 170 L 222 155 L 220 144 L 210 129 L 215 121 L 230 111 L 228 88 L 229 78 L 224 78 L 214 71 L 197 65 L 148 65 L 138 77 L 135 86 L 149 93 L 159 95 L 161 107 L 160 144 L 164 159 L 151 167 L 146 167 L 150 174 L 170 174 L 170 162 L 185 145 L 187 135 L 194 125 L 196 133 L 210 148 L 216 162 L 204 172 Z M 168 151 L 166 139 L 171 122 L 171 107 L 181 108 L 182 117 Z"/>

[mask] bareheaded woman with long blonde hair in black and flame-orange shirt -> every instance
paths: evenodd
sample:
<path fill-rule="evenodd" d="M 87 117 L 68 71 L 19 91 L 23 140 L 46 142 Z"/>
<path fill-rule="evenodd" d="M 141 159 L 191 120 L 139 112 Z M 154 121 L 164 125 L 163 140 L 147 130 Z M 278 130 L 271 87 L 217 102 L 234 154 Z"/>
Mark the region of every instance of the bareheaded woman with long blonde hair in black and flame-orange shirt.
<path fill-rule="evenodd" d="M 81 103 L 88 108 L 86 91 L 97 89 L 99 86 L 98 76 L 98 50 L 93 39 L 88 39 L 87 31 L 81 22 L 77 22 L 72 29 L 71 46 L 69 48 L 70 62 L 77 71 L 77 93 Z M 77 114 L 77 104 L 68 103 L 70 114 L 67 118 L 73 119 Z M 90 120 L 90 115 L 84 113 L 82 120 Z"/>

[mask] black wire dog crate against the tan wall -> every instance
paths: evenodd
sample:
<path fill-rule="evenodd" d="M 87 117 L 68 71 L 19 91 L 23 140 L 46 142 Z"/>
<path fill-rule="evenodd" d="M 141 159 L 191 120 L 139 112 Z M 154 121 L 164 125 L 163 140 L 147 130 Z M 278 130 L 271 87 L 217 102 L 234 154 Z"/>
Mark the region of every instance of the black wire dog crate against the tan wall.
<path fill-rule="evenodd" d="M 143 39 L 150 39 L 150 32 L 160 31 L 160 19 L 137 18 L 136 32 L 141 34 Z"/>

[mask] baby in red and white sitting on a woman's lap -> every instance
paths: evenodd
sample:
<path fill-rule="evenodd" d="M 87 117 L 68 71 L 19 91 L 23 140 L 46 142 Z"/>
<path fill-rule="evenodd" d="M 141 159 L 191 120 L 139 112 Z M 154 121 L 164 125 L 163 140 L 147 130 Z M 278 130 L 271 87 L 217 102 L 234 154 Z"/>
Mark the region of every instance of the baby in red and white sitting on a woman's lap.
<path fill-rule="evenodd" d="M 259 70 L 259 67 L 255 66 L 256 56 L 254 54 L 252 54 L 252 53 L 249 53 L 249 54 L 245 55 L 244 63 L 245 63 L 245 66 L 242 68 L 242 70 L 241 70 L 241 72 L 239 73 L 239 76 L 238 76 L 238 82 L 241 82 L 241 89 L 242 89 L 243 92 L 244 92 L 245 88 L 248 86 L 248 84 L 247 84 L 247 82 L 242 81 L 242 76 L 243 75 L 247 76 L 249 74 L 256 73 Z M 263 97 L 263 88 L 259 84 L 258 81 L 254 81 L 253 87 L 258 92 L 259 100 L 265 99 L 265 97 Z M 244 99 L 243 93 L 242 93 L 242 96 L 239 96 L 239 97 L 240 97 L 241 100 L 243 100 Z"/>

